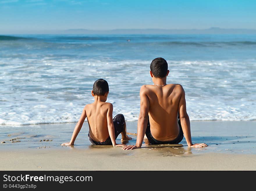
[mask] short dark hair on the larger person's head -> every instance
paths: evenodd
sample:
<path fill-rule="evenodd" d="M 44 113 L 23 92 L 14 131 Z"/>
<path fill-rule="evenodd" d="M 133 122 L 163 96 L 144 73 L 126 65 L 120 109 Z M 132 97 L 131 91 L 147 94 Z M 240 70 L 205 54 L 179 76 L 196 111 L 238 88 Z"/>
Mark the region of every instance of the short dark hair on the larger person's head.
<path fill-rule="evenodd" d="M 168 64 L 163 58 L 155 58 L 150 64 L 150 70 L 156 78 L 163 78 L 167 74 Z"/>

